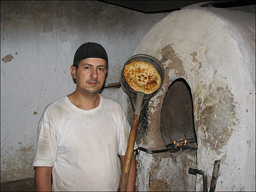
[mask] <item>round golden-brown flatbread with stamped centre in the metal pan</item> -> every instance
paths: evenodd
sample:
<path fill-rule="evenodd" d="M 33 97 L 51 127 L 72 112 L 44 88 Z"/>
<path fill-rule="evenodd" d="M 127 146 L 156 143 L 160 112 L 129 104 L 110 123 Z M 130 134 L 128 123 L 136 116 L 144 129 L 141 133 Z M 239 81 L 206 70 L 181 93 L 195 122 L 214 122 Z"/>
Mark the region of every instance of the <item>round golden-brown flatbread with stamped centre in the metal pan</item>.
<path fill-rule="evenodd" d="M 156 68 L 145 61 L 134 60 L 125 65 L 123 75 L 135 92 L 152 94 L 161 86 L 161 77 Z"/>

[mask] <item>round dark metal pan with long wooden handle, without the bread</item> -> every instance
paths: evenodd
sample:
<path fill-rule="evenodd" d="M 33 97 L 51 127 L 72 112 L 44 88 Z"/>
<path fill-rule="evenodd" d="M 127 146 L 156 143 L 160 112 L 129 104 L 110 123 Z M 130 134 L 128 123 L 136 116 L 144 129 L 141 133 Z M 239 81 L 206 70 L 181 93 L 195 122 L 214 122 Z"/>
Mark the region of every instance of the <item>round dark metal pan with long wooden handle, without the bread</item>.
<path fill-rule="evenodd" d="M 138 55 L 134 55 L 134 56 L 130 57 L 124 63 L 124 66 L 134 60 L 145 61 L 145 62 L 149 63 L 150 65 L 152 65 L 153 67 L 155 67 L 158 74 L 161 77 L 161 84 L 160 84 L 159 89 L 151 94 L 144 94 L 143 92 L 139 92 L 139 91 L 135 92 L 125 80 L 125 77 L 123 75 L 123 70 L 124 70 L 124 67 L 123 67 L 123 70 L 120 75 L 120 84 L 121 84 L 124 92 L 129 95 L 129 98 L 131 100 L 133 110 L 134 110 L 134 118 L 133 118 L 133 123 L 131 126 L 129 141 L 128 141 L 127 148 L 126 148 L 126 153 L 125 153 L 124 163 L 123 163 L 123 167 L 122 167 L 122 174 L 121 174 L 121 178 L 120 178 L 120 182 L 119 182 L 118 191 L 126 190 L 127 180 L 129 177 L 131 162 L 132 162 L 133 153 L 134 153 L 134 144 L 135 144 L 138 121 L 139 121 L 141 109 L 143 109 L 145 104 L 154 95 L 156 95 L 160 91 L 162 84 L 163 84 L 163 80 L 164 80 L 164 68 L 156 58 L 154 58 L 150 55 L 146 55 L 146 54 L 138 54 Z M 136 98 L 135 106 L 134 106 L 132 98 Z M 144 102 L 144 104 L 142 106 L 143 99 L 147 99 L 147 100 Z"/>

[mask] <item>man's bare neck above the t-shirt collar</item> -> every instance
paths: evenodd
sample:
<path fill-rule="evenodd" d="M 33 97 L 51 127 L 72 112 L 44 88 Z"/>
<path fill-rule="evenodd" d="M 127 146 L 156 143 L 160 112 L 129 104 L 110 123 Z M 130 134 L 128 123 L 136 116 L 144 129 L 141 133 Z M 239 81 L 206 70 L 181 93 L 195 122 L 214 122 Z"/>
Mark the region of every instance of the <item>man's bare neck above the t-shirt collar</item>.
<path fill-rule="evenodd" d="M 68 98 L 72 104 L 82 110 L 94 109 L 100 102 L 99 94 L 80 94 L 77 90 L 68 95 Z"/>

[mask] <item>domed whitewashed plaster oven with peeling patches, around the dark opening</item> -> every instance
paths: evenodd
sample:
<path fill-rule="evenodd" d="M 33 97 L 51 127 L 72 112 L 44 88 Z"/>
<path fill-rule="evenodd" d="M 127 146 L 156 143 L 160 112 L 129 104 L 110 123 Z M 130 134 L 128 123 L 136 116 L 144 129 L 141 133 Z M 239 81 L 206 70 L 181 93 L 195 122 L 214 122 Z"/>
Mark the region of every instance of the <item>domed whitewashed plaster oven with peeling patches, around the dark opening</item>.
<path fill-rule="evenodd" d="M 184 78 L 193 96 L 198 140 L 197 159 L 185 155 L 193 162 L 188 166 L 207 174 L 209 189 L 214 161 L 221 160 L 217 191 L 254 191 L 255 14 L 189 6 L 157 23 L 140 41 L 134 54 L 138 53 L 158 58 L 165 68 L 162 90 L 148 103 L 148 126 L 138 138 L 139 146 L 164 148 L 159 130 L 162 101 L 170 84 Z M 150 175 L 156 170 L 158 185 L 177 189 L 171 179 L 182 170 L 177 169 L 182 158 L 140 153 L 140 173 L 148 175 L 138 175 L 139 190 L 153 189 Z M 183 168 L 188 172 L 186 165 Z M 203 190 L 202 176 L 196 177 L 194 186 Z"/>

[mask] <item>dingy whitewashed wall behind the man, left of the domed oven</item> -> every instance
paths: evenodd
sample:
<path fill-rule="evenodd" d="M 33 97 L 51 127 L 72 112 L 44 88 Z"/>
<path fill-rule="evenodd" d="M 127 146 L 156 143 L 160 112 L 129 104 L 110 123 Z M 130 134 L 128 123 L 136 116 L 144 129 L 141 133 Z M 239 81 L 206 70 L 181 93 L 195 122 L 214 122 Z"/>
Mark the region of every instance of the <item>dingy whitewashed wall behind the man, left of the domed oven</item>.
<path fill-rule="evenodd" d="M 166 15 L 98 1 L 1 1 L 1 182 L 34 177 L 38 121 L 48 104 L 75 90 L 70 66 L 76 49 L 101 44 L 109 56 L 105 84 L 119 82 L 139 40 Z M 121 88 L 101 94 L 129 115 Z"/>

